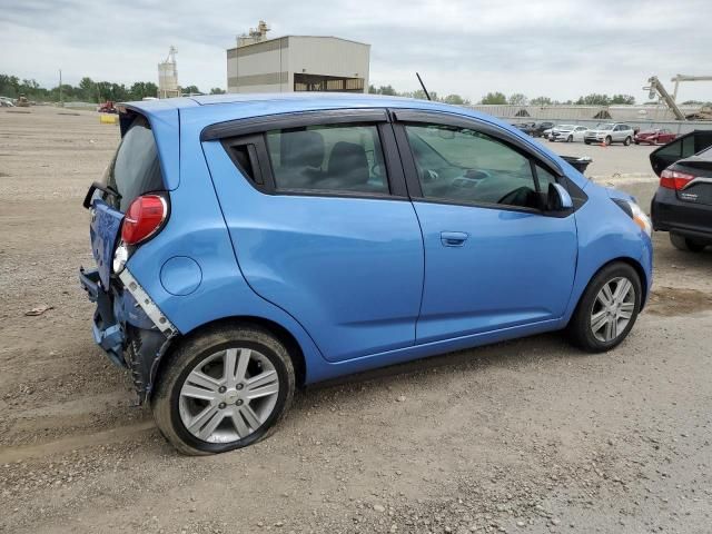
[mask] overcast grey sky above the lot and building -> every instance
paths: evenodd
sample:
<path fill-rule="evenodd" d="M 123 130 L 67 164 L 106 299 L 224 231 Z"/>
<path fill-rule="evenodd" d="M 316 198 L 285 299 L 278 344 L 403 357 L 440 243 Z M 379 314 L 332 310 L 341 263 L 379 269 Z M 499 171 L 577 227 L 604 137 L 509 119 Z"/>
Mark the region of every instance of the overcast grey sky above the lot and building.
<path fill-rule="evenodd" d="M 712 75 L 712 0 L 0 0 L 0 73 L 57 85 L 57 71 L 157 82 L 178 49 L 181 86 L 226 88 L 226 53 L 257 26 L 283 34 L 337 36 L 372 44 L 370 83 L 473 101 L 487 91 L 560 100 L 630 93 L 651 75 Z M 712 100 L 712 82 L 680 100 Z"/>

